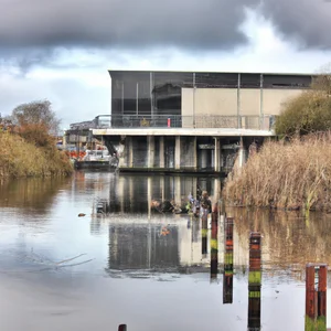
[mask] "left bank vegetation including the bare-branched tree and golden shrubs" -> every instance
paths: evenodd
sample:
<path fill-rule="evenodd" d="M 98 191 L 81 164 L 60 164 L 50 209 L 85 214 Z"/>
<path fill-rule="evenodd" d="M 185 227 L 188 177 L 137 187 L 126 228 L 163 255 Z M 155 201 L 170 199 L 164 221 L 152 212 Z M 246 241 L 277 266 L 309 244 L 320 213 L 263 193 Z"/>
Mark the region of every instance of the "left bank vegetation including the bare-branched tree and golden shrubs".
<path fill-rule="evenodd" d="M 0 180 L 70 175 L 70 158 L 56 148 L 58 126 L 49 100 L 22 104 L 0 116 Z"/>

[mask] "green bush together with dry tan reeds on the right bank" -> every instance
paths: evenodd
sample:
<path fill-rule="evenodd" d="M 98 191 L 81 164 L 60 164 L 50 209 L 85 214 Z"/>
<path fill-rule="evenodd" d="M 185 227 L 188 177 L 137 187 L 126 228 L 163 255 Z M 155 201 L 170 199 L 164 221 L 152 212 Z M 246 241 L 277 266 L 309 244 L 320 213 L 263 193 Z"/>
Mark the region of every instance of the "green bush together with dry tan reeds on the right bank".
<path fill-rule="evenodd" d="M 281 140 L 234 168 L 223 190 L 228 204 L 331 213 L 331 75 L 323 72 L 284 104 L 275 122 Z"/>

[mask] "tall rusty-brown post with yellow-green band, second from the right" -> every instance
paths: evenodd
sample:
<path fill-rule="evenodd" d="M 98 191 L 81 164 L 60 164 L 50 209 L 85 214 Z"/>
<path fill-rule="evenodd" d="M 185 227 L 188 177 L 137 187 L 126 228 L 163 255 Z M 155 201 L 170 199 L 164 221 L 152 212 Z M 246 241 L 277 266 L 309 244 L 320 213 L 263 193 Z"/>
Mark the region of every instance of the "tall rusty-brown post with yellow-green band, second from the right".
<path fill-rule="evenodd" d="M 249 274 L 248 274 L 248 330 L 260 330 L 260 243 L 258 232 L 249 236 Z"/>

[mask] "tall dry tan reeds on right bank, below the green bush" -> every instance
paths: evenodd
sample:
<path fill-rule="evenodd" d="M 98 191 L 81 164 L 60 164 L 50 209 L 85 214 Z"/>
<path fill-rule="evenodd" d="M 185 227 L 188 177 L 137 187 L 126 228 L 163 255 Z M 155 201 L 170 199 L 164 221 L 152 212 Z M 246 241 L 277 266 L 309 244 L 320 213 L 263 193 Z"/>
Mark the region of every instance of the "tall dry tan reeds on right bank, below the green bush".
<path fill-rule="evenodd" d="M 223 194 L 234 205 L 331 210 L 331 132 L 266 142 Z"/>

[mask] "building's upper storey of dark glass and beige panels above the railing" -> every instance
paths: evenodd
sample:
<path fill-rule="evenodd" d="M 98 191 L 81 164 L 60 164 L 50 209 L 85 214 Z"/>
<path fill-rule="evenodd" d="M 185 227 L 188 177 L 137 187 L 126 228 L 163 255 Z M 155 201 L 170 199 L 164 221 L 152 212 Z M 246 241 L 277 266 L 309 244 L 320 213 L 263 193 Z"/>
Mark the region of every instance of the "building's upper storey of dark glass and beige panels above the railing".
<path fill-rule="evenodd" d="M 160 120 L 181 116 L 177 127 L 205 127 L 205 116 L 214 117 L 215 127 L 215 116 L 277 116 L 287 99 L 312 82 L 311 75 L 299 74 L 109 71 L 109 75 L 116 127 L 127 127 L 141 116 Z"/>

